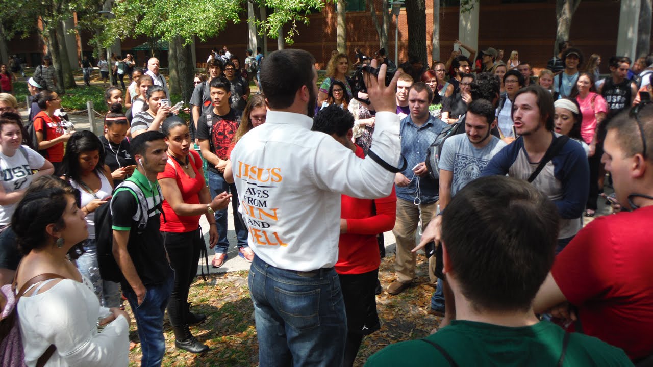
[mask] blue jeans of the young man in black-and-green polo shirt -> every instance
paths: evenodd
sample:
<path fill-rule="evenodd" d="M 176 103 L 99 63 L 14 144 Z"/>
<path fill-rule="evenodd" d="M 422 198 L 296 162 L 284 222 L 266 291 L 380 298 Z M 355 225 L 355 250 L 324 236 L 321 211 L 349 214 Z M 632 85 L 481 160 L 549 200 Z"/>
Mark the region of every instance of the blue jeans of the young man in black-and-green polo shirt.
<path fill-rule="evenodd" d="M 123 293 L 129 301 L 129 306 L 136 319 L 140 349 L 143 355 L 140 359 L 142 367 L 161 366 L 165 354 L 165 338 L 163 337 L 163 315 L 168 306 L 168 298 L 172 293 L 173 274 L 163 283 L 146 286 L 143 303 L 138 306 L 138 298 L 131 287 L 124 287 Z"/>

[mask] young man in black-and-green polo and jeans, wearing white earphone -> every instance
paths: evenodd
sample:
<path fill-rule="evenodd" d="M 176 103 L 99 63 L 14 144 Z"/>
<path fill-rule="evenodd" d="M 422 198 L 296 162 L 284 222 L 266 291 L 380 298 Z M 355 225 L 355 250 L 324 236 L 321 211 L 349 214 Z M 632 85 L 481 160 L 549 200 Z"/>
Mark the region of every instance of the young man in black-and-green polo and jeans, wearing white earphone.
<path fill-rule="evenodd" d="M 159 232 L 163 199 L 157 174 L 168 160 L 164 139 L 158 131 L 147 131 L 131 140 L 136 170 L 127 181 L 135 183 L 140 192 L 120 186 L 111 202 L 113 253 L 123 274 L 123 293 L 138 325 L 143 367 L 161 366 L 165 354 L 163 315 L 174 279 Z M 142 200 L 146 201 L 145 213 Z M 147 225 L 139 228 L 142 215 L 148 215 Z"/>

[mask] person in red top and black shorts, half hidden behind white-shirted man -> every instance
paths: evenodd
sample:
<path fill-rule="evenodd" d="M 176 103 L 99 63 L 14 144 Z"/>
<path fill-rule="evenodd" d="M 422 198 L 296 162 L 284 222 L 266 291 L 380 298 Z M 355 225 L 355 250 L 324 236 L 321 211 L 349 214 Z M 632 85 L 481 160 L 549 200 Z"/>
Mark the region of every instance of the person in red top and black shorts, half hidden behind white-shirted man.
<path fill-rule="evenodd" d="M 353 150 L 357 157 L 364 158 L 362 148 L 351 140 L 353 127 L 354 116 L 332 104 L 317 112 L 311 130 L 333 136 Z M 385 198 L 370 200 L 342 195 L 340 204 L 336 272 L 347 314 L 347 342 L 342 366 L 351 367 L 363 336 L 381 328 L 375 296 L 381 264 L 376 236 L 394 227 L 397 198 L 392 187 L 392 192 Z"/>

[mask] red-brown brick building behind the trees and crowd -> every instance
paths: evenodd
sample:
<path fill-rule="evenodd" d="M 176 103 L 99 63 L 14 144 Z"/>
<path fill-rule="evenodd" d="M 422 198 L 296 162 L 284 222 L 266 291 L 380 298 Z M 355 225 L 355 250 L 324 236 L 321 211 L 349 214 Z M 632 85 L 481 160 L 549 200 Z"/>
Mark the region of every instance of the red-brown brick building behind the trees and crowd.
<path fill-rule="evenodd" d="M 365 54 L 374 54 L 379 48 L 376 29 L 372 23 L 369 11 L 369 1 L 375 1 L 377 11 L 381 10 L 381 0 L 349 0 L 347 11 L 347 49 L 353 57 L 353 50 L 359 47 Z M 409 0 L 410 1 L 410 0 Z M 627 0 L 584 0 L 573 16 L 571 25 L 571 40 L 575 46 L 581 48 L 585 56 L 599 54 L 603 60 L 616 54 L 618 49 L 618 33 L 620 12 L 624 12 L 624 3 Z M 462 29 L 459 6 L 455 0 L 445 0 L 445 5 L 440 7 L 440 54 L 439 59 L 447 59 L 453 42 L 461 39 L 473 46 L 477 42 L 477 50 L 487 47 L 503 49 L 503 60 L 507 60 L 511 50 L 518 50 L 521 61 L 528 61 L 534 67 L 544 67 L 552 56 L 553 43 L 556 34 L 556 1 L 555 0 L 483 0 L 477 3 L 477 29 Z M 446 5 L 451 4 L 451 5 Z M 336 5 L 328 3 L 322 12 L 309 16 L 310 24 L 298 25 L 299 34 L 295 37 L 293 48 L 302 48 L 315 56 L 318 66 L 323 68 L 328 61 L 332 50 L 336 49 Z M 426 42 L 429 63 L 432 61 L 431 37 L 433 33 L 433 2 L 426 1 Z M 623 15 L 622 15 L 623 18 Z M 219 37 L 202 42 L 195 42 L 195 54 L 198 66 L 206 60 L 211 48 L 214 46 L 227 46 L 232 53 L 242 59 L 248 45 L 248 25 L 246 12 L 242 15 L 241 22 L 230 24 L 221 32 Z M 401 10 L 399 16 L 399 59 L 407 58 L 407 25 L 406 12 Z M 394 58 L 395 19 L 391 18 L 388 29 L 388 55 Z M 92 54 L 93 48 L 88 45 L 90 37 L 82 33 L 79 35 L 81 50 L 78 54 Z M 147 42 L 146 37 L 125 39 L 121 41 L 120 50 L 124 56 L 128 52 L 135 54 L 139 65 L 142 65 L 149 56 L 146 51 L 134 51 L 138 45 Z M 471 40 L 468 41 L 468 40 Z M 635 40 L 633 39 L 633 42 Z M 259 45 L 263 46 L 263 45 Z M 35 65 L 42 55 L 43 46 L 36 35 L 29 39 L 14 39 L 8 42 L 9 52 L 20 54 L 30 65 Z M 267 51 L 276 50 L 277 42 L 268 39 Z M 162 52 L 161 61 L 167 65 L 167 53 Z M 601 72 L 607 72 L 607 63 L 601 65 Z"/>

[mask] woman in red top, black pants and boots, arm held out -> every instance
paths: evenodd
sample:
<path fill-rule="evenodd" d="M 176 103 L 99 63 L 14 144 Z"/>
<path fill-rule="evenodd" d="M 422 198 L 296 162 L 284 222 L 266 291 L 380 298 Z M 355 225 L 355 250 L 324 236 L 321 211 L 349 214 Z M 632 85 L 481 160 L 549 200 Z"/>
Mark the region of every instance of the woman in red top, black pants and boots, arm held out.
<path fill-rule="evenodd" d="M 162 126 L 168 144 L 168 163 L 158 175 L 163 193 L 161 233 L 174 269 L 174 285 L 168 302 L 168 316 L 174 331 L 174 345 L 193 353 L 203 353 L 209 347 L 200 343 L 188 325 L 200 323 L 206 315 L 191 313 L 188 291 L 197 274 L 202 250 L 206 253 L 204 236 L 199 227 L 202 214 L 209 223 L 209 246 L 217 243 L 215 210 L 229 205 L 231 195 L 221 193 L 211 200 L 199 154 L 190 149 L 191 135 L 180 120 L 166 120 Z"/>

